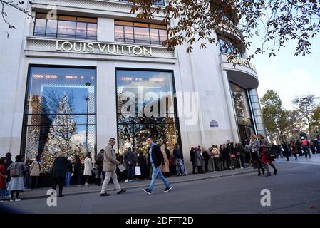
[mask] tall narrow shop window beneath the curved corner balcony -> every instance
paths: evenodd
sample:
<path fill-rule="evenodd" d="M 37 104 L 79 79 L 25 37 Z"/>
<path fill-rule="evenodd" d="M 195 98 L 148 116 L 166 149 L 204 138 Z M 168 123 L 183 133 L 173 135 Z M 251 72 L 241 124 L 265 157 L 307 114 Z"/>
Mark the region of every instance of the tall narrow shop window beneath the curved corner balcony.
<path fill-rule="evenodd" d="M 240 139 L 244 141 L 249 139 L 254 133 L 252 114 L 250 111 L 249 98 L 247 89 L 230 82 L 234 110 L 237 115 Z"/>

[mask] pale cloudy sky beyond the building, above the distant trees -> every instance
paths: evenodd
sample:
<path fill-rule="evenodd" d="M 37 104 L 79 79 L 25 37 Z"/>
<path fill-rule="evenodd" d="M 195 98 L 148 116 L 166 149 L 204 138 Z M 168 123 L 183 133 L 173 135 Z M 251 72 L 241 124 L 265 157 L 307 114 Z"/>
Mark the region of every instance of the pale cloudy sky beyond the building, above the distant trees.
<path fill-rule="evenodd" d="M 262 40 L 254 37 L 252 47 L 247 51 L 252 54 Z M 284 108 L 291 110 L 291 100 L 296 96 L 311 93 L 320 97 L 320 34 L 311 40 L 311 52 L 308 56 L 294 56 L 296 41 L 290 41 L 277 56 L 269 58 L 269 53 L 258 54 L 251 60 L 259 76 L 259 97 L 267 90 L 276 90 L 282 99 Z"/>

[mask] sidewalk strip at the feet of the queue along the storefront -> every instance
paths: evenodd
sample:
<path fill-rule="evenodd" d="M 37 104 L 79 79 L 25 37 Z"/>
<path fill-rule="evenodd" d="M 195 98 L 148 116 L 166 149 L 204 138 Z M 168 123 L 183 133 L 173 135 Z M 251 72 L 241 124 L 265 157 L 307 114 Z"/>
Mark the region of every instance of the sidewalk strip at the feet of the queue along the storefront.
<path fill-rule="evenodd" d="M 207 172 L 205 174 L 190 174 L 187 176 L 172 176 L 168 178 L 168 181 L 171 184 L 175 183 L 180 183 L 180 182 L 191 182 L 191 181 L 197 181 L 197 180 L 207 180 L 207 179 L 212 179 L 212 178 L 218 178 L 218 177 L 229 177 L 229 176 L 234 176 L 234 175 L 244 175 L 247 173 L 251 172 L 257 172 L 257 170 L 254 170 L 253 168 L 245 168 L 242 170 L 225 170 L 225 171 L 220 171 L 220 172 Z M 134 188 L 145 188 L 148 187 L 150 184 L 150 180 L 138 180 L 137 182 L 120 182 L 120 186 L 123 189 L 130 190 Z M 162 182 L 160 179 L 157 179 L 157 182 L 155 185 L 162 185 Z M 23 200 L 26 199 L 42 199 L 48 197 L 46 195 L 46 192 L 49 190 L 49 187 L 43 187 L 39 188 L 37 190 L 30 190 L 26 192 L 21 192 L 20 193 L 20 198 Z M 88 194 L 88 193 L 94 193 L 96 192 L 97 194 L 100 192 L 101 186 L 97 185 L 90 185 L 88 187 L 85 187 L 81 185 L 80 187 L 77 186 L 71 186 L 71 187 L 63 187 L 63 195 L 68 196 L 68 195 L 81 195 L 81 194 Z M 114 185 L 110 183 L 108 185 L 108 192 L 110 191 L 115 191 Z"/>

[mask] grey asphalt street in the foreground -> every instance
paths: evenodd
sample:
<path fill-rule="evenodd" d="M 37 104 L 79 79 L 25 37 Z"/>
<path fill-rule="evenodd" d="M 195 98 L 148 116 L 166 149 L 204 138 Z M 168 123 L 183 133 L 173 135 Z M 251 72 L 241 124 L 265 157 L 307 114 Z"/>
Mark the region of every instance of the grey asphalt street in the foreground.
<path fill-rule="evenodd" d="M 258 176 L 257 170 L 225 171 L 203 175 L 189 175 L 185 180 L 172 177 L 172 191 L 164 193 L 163 185 L 155 187 L 153 195 L 145 195 L 143 185 L 128 188 L 123 195 L 100 197 L 94 192 L 78 192 L 76 195 L 58 197 L 56 207 L 48 207 L 47 199 L 39 193 L 23 192 L 29 198 L 21 202 L 6 202 L 7 209 L 27 213 L 320 213 L 320 155 L 312 160 L 299 157 L 299 160 L 275 162 L 279 169 L 276 176 Z M 250 170 L 250 171 L 249 171 Z M 225 173 L 224 172 L 224 173 Z M 239 172 L 242 172 L 239 174 Z M 234 173 L 234 175 L 230 175 Z M 214 175 L 217 175 L 214 177 Z M 192 180 L 192 181 L 191 181 Z M 130 183 L 134 184 L 134 183 Z M 160 184 L 160 183 L 159 183 Z M 127 184 L 128 186 L 129 184 Z M 71 188 L 70 188 L 71 189 Z M 270 191 L 271 205 L 262 207 L 262 190 Z M 71 191 L 71 190 L 70 190 Z M 70 192 L 72 193 L 72 192 Z M 22 197 L 21 195 L 21 197 Z M 36 197 L 33 197 L 36 196 Z M 38 198 L 37 198 L 38 196 Z"/>

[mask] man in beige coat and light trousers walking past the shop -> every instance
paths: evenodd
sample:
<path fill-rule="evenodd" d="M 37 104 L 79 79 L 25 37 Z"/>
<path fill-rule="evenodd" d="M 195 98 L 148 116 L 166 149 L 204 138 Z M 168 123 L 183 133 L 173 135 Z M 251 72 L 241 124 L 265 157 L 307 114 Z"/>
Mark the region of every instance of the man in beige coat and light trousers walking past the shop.
<path fill-rule="evenodd" d="M 117 170 L 117 165 L 120 165 L 121 163 L 117 160 L 117 157 L 115 157 L 115 150 L 113 149 L 114 145 L 115 138 L 110 138 L 108 145 L 105 147 L 105 152 L 103 153 L 103 171 L 105 171 L 105 180 L 103 181 L 100 192 L 100 196 L 102 197 L 110 195 L 107 193 L 107 186 L 111 177 L 117 193 L 121 194 L 126 192 L 126 190 L 121 190 L 117 174 L 115 173 L 115 170 Z"/>

